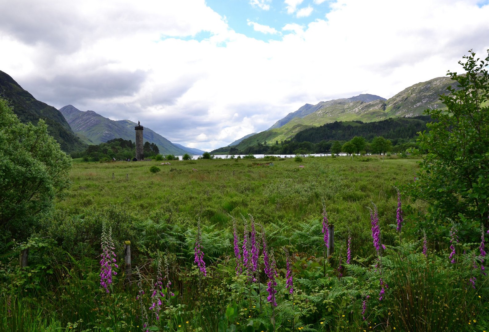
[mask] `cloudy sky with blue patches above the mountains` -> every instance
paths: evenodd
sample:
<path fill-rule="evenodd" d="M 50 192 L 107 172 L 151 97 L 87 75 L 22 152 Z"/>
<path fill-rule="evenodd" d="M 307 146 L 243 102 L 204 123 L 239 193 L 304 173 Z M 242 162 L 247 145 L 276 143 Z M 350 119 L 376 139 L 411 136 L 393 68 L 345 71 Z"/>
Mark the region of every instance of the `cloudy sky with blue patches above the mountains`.
<path fill-rule="evenodd" d="M 489 48 L 489 0 L 0 0 L 0 70 L 202 150 L 303 104 L 392 97 Z"/>

